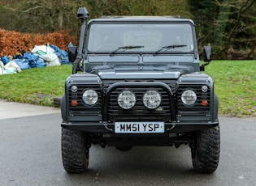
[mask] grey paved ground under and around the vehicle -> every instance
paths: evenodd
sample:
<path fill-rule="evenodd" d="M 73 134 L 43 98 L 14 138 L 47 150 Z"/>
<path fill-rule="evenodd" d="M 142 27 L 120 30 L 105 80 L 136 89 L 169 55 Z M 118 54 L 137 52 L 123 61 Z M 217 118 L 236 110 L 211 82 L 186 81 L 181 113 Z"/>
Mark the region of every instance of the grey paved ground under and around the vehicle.
<path fill-rule="evenodd" d="M 220 117 L 220 161 L 211 175 L 193 171 L 189 146 L 134 147 L 128 152 L 92 146 L 89 171 L 67 174 L 59 109 L 33 107 L 13 104 L 8 111 L 0 106 L 0 185 L 256 185 L 255 118 Z M 27 112 L 17 116 L 20 108 Z"/>

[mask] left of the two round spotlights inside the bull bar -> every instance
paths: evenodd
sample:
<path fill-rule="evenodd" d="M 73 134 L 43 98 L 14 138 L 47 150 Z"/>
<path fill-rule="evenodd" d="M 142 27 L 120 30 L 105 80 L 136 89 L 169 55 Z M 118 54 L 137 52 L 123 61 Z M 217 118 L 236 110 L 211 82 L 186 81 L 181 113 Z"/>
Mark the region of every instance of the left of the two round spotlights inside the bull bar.
<path fill-rule="evenodd" d="M 122 91 L 117 98 L 118 104 L 121 108 L 130 109 L 136 103 L 136 97 L 132 91 Z"/>

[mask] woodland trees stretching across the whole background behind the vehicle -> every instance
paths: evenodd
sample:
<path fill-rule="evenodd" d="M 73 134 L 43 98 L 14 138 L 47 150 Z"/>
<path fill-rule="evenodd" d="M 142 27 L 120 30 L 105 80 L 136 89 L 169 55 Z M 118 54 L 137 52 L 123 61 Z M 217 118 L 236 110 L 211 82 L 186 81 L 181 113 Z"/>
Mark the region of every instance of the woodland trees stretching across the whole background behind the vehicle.
<path fill-rule="evenodd" d="M 196 23 L 197 44 L 214 47 L 215 58 L 228 51 L 245 51 L 255 58 L 255 0 L 2 0 L 0 27 L 18 32 L 70 30 L 79 36 L 78 7 L 86 6 L 89 19 L 102 15 L 181 15 Z M 202 52 L 202 51 L 201 51 Z M 229 55 L 230 56 L 230 55 Z"/>

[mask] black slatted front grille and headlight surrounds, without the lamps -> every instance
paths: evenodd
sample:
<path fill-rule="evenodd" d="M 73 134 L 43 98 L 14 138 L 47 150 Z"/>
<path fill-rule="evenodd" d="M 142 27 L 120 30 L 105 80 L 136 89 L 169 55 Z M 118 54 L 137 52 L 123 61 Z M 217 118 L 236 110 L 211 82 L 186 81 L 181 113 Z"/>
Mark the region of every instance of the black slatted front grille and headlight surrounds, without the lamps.
<path fill-rule="evenodd" d="M 128 87 L 136 95 L 137 103 L 131 109 L 123 109 L 119 107 L 117 103 L 117 97 L 120 91 L 124 91 L 127 87 L 115 87 L 108 98 L 104 98 L 106 95 L 106 90 L 116 82 L 156 82 L 150 80 L 141 81 L 125 81 L 124 79 L 119 80 L 104 80 L 103 87 L 99 85 L 82 85 L 78 84 L 76 87 L 78 90 L 76 93 L 71 91 L 71 87 L 68 90 L 68 104 L 67 108 L 69 110 L 69 116 L 73 118 L 83 118 L 84 116 L 102 116 L 103 112 L 106 112 L 106 117 L 104 120 L 115 122 L 115 121 L 170 121 L 171 120 L 171 101 L 167 90 L 164 87 Z M 210 115 L 210 88 L 208 91 L 202 92 L 203 85 L 186 85 L 182 84 L 176 87 L 176 80 L 158 80 L 157 82 L 163 82 L 171 87 L 171 91 L 174 99 L 174 107 L 177 108 L 178 116 L 209 116 Z M 190 88 L 191 87 L 191 88 Z M 92 88 L 98 93 L 98 102 L 93 105 L 93 107 L 86 105 L 82 100 L 83 92 L 89 88 Z M 197 93 L 197 102 L 190 107 L 184 105 L 181 102 L 181 94 L 186 89 L 193 89 Z M 142 98 L 145 91 L 154 89 L 157 90 L 162 96 L 162 103 L 157 109 L 146 108 L 143 104 Z M 176 90 L 177 89 L 177 90 Z M 102 92 L 103 91 L 103 92 Z M 104 95 L 104 96 L 103 96 Z M 78 103 L 76 107 L 72 107 L 72 99 L 77 99 Z M 107 100 L 106 100 L 107 99 Z M 206 107 L 202 106 L 202 99 L 206 99 L 208 105 Z M 105 102 L 104 102 L 105 101 Z M 107 103 L 107 104 L 106 104 Z M 106 105 L 105 105 L 106 104 Z M 102 109 L 103 108 L 103 109 Z M 76 120 L 74 119 L 74 120 Z M 80 119 L 77 119 L 80 120 Z"/>

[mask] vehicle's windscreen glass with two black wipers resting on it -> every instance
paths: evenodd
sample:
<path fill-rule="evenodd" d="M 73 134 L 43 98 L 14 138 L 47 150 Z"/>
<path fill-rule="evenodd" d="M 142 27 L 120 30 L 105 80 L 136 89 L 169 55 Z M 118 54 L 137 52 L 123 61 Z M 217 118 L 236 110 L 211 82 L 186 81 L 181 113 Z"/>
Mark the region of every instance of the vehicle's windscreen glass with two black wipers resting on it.
<path fill-rule="evenodd" d="M 93 23 L 89 27 L 89 53 L 188 53 L 193 49 L 189 23 Z"/>

